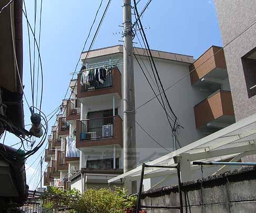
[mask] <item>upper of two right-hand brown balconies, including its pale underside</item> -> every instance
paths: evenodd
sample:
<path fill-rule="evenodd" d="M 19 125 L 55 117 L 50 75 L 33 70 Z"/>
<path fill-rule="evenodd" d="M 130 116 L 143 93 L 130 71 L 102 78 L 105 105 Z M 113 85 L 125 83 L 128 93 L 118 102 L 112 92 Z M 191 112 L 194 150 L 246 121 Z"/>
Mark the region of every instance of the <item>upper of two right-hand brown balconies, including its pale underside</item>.
<path fill-rule="evenodd" d="M 216 54 L 216 55 L 214 55 Z M 190 66 L 190 81 L 194 87 L 216 91 L 228 79 L 226 60 L 221 47 L 212 46 Z"/>

